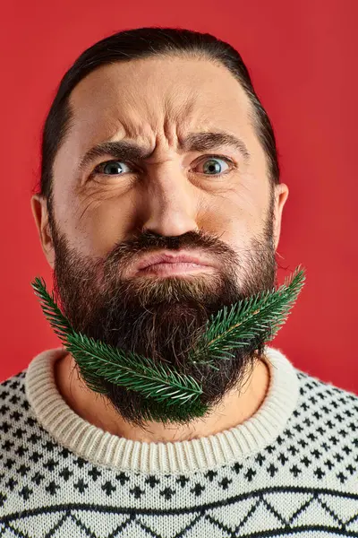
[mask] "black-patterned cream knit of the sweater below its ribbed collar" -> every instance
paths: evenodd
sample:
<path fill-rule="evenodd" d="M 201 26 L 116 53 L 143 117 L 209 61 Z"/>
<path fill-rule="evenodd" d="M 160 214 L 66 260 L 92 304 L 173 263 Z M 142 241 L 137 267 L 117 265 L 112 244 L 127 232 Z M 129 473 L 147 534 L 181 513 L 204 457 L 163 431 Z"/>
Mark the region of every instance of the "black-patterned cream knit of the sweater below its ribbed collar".
<path fill-rule="evenodd" d="M 205 473 L 91 464 L 0 385 L 0 537 L 358 537 L 358 396 L 296 370 L 298 404 L 270 445 Z"/>

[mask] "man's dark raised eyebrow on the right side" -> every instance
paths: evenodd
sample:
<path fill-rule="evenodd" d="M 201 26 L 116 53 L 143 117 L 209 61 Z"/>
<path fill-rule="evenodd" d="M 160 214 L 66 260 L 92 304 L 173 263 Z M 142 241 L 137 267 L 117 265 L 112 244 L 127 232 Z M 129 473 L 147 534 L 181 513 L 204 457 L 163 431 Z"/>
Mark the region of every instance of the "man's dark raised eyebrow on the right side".
<path fill-rule="evenodd" d="M 242 153 L 245 162 L 250 161 L 250 152 L 246 144 L 234 134 L 226 132 L 216 133 L 192 133 L 182 141 L 183 150 L 186 152 L 208 152 L 220 147 L 228 146 Z"/>

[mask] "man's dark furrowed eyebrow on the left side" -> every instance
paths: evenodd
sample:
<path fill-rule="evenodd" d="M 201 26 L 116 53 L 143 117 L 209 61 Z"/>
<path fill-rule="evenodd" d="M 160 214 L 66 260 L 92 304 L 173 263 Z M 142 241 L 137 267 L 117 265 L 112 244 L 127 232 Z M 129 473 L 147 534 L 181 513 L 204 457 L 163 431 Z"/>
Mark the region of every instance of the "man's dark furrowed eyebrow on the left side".
<path fill-rule="evenodd" d="M 109 155 L 112 159 L 118 161 L 136 161 L 146 159 L 152 151 L 147 151 L 145 148 L 136 143 L 118 140 L 113 142 L 102 142 L 90 148 L 84 154 L 79 164 L 79 171 L 83 171 L 86 167 L 98 157 Z"/>

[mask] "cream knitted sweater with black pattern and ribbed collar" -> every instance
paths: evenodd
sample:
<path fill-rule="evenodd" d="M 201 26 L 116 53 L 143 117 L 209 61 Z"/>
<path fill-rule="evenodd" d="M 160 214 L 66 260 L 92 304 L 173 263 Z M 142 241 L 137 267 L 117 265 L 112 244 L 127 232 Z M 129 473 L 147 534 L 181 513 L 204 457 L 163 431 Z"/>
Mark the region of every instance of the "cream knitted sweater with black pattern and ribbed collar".
<path fill-rule="evenodd" d="M 145 443 L 84 421 L 41 352 L 0 385 L 0 537 L 358 537 L 358 395 L 267 347 L 242 424 Z"/>

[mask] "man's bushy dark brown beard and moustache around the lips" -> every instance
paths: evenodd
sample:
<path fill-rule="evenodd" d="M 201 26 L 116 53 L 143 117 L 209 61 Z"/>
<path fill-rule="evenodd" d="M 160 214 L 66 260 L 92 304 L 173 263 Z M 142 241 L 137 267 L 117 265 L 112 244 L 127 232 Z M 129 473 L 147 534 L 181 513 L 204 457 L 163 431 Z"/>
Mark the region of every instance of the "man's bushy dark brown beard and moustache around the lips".
<path fill-rule="evenodd" d="M 277 264 L 272 226 L 271 202 L 263 234 L 240 251 L 240 258 L 219 239 L 191 231 L 179 237 L 144 232 L 138 239 L 116 245 L 106 259 L 93 259 L 80 256 L 69 247 L 52 220 L 56 300 L 75 331 L 169 363 L 179 373 L 194 377 L 202 386 L 201 402 L 213 407 L 229 390 L 240 389 L 244 377 L 260 359 L 264 342 L 256 340 L 235 350 L 233 359 L 217 361 L 218 370 L 189 364 L 188 351 L 195 347 L 211 314 L 275 286 Z M 220 262 L 222 269 L 190 278 L 121 278 L 121 273 L 140 254 L 185 247 L 205 251 Z M 240 286 L 238 275 L 242 280 Z M 150 414 L 161 420 L 159 404 L 105 379 L 101 383 L 125 421 L 144 427 Z M 183 416 L 181 422 L 186 421 L 190 418 Z"/>

